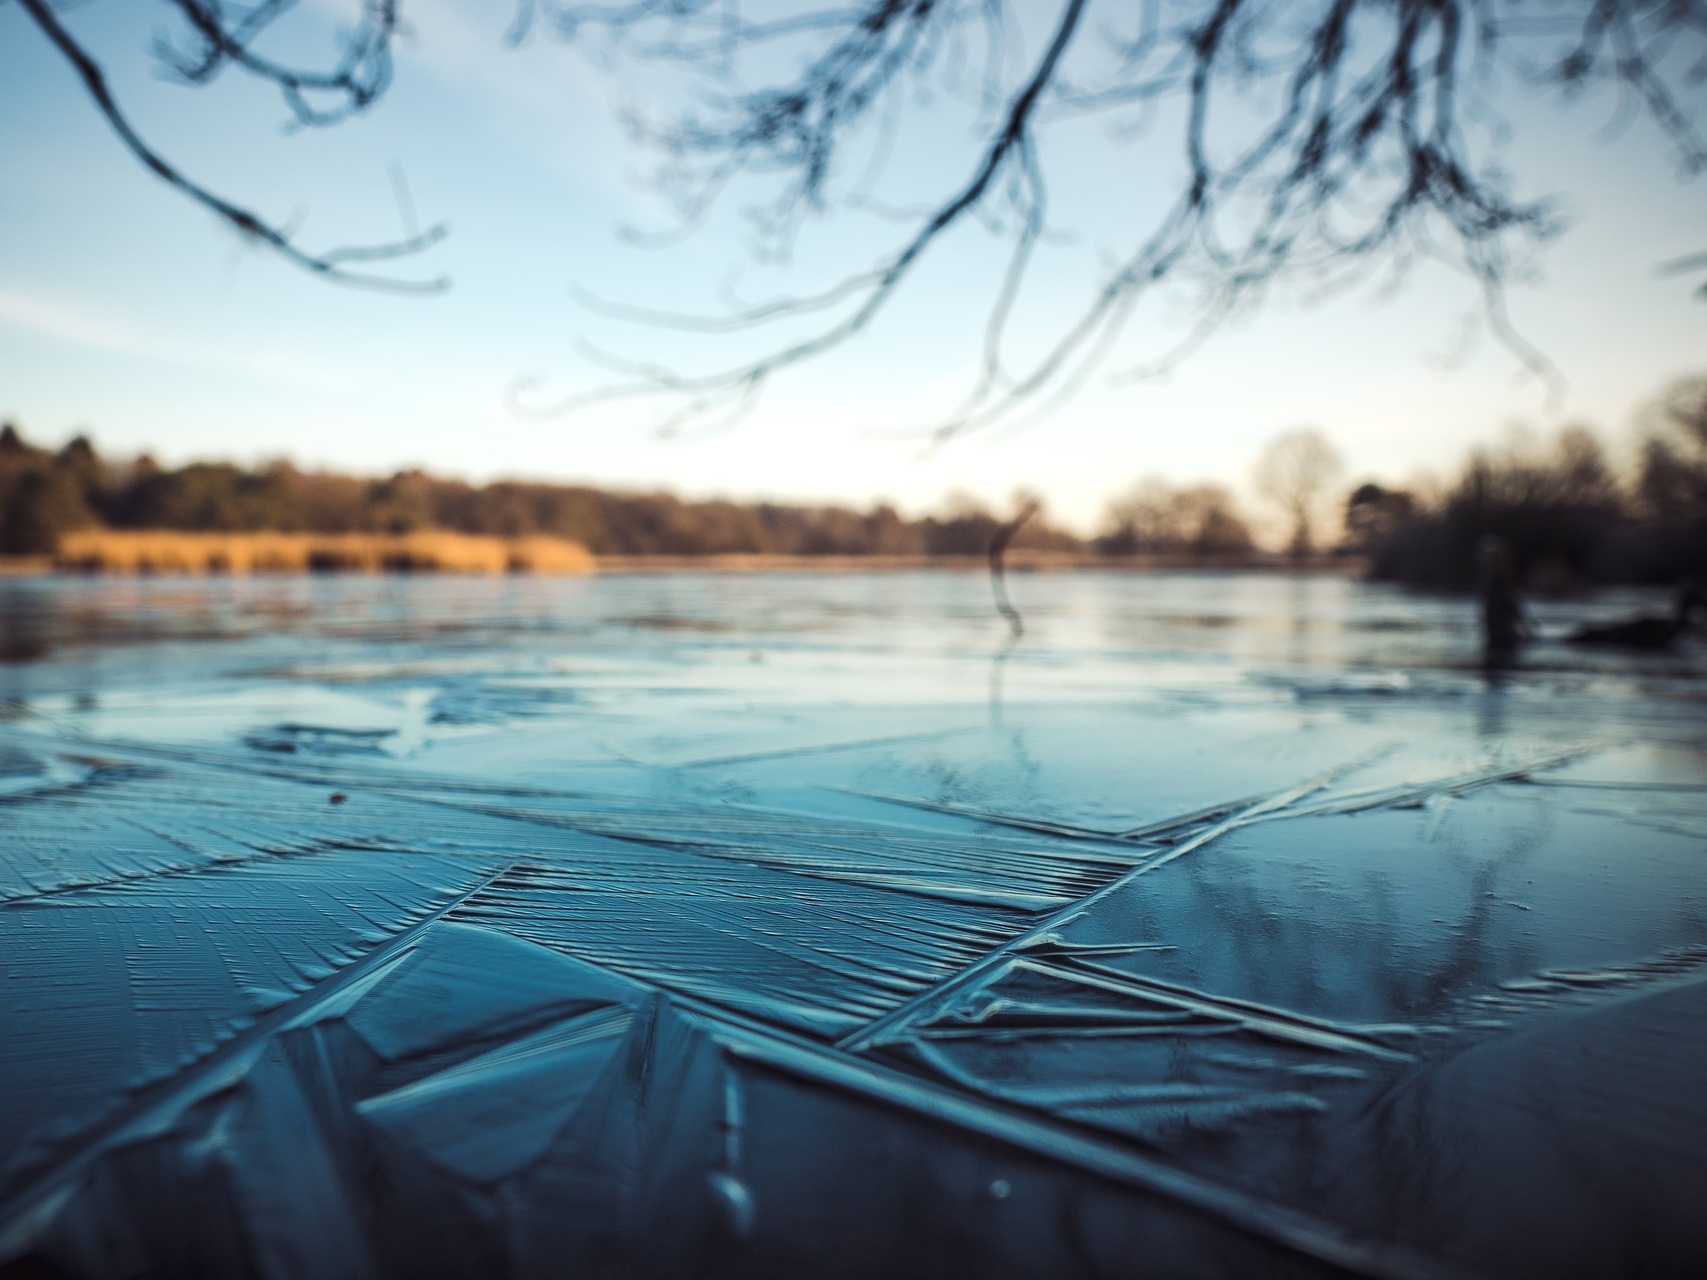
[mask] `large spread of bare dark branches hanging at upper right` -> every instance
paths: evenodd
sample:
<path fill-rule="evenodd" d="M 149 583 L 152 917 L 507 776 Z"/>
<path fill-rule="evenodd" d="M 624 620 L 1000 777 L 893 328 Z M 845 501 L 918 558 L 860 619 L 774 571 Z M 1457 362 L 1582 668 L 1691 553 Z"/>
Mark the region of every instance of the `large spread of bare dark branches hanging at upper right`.
<path fill-rule="evenodd" d="M 964 49 L 975 31 L 992 49 L 1000 44 L 982 75 L 954 73 L 956 84 L 978 84 L 982 135 L 966 177 L 889 254 L 823 290 L 720 316 L 599 305 L 695 331 L 795 328 L 758 358 L 710 372 L 654 370 L 565 399 L 556 411 L 654 394 L 749 398 L 869 328 L 970 218 L 1002 229 L 1007 261 L 976 370 L 961 404 L 932 425 L 937 439 L 1014 425 L 1075 394 L 1164 280 L 1198 294 L 1191 333 L 1166 365 L 1282 278 L 1335 288 L 1378 263 L 1403 270 L 1422 258 L 1463 268 L 1494 336 L 1557 389 L 1557 370 L 1514 329 L 1504 295 L 1560 220 L 1548 201 L 1511 195 L 1466 133 L 1500 65 L 1570 92 L 1615 84 L 1659 125 L 1687 174 L 1707 166 L 1685 97 L 1700 84 L 1700 67 L 1680 70 L 1690 49 L 1707 46 L 1700 0 L 1579 0 L 1548 14 L 1523 0 L 1151 0 L 1103 29 L 1086 22 L 1086 0 L 1058 0 L 1041 51 L 1017 77 L 1004 73 L 1004 41 L 1017 19 L 976 0 L 865 0 L 792 12 L 778 24 L 748 22 L 727 0 L 538 9 L 570 38 L 599 29 L 618 49 L 712 77 L 708 108 L 637 125 L 637 133 L 661 152 L 664 188 L 695 217 L 739 176 L 778 181 L 760 222 L 761 251 L 772 254 L 787 249 L 807 215 L 872 203 L 869 172 L 838 195 L 843 154 L 869 123 L 888 119 L 883 113 L 901 94 L 937 73 L 946 48 Z M 761 56 L 743 61 L 754 51 Z M 758 87 L 746 87 L 743 73 L 756 75 Z M 1106 270 L 1075 319 L 1017 357 L 1009 329 L 1046 232 L 1043 130 L 1082 118 L 1118 123 L 1174 97 L 1185 159 L 1176 200 L 1147 225 L 1133 224 L 1127 258 Z"/>

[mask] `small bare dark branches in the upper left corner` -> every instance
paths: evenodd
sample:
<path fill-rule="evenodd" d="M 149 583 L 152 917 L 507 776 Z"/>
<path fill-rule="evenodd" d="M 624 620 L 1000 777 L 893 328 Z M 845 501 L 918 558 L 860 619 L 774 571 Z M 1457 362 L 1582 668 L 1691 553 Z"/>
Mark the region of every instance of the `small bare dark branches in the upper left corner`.
<path fill-rule="evenodd" d="M 312 271 L 326 280 L 336 280 L 345 285 L 360 285 L 365 288 L 384 288 L 405 294 L 432 294 L 447 287 L 449 282 L 444 276 L 435 280 L 394 280 L 389 276 L 347 271 L 343 266 L 345 263 L 381 263 L 418 254 L 446 237 L 447 227 L 444 225 L 428 227 L 425 232 L 413 232 L 401 241 L 391 241 L 387 244 L 348 246 L 314 254 L 299 247 L 290 232 L 283 227 L 265 220 L 253 210 L 234 205 L 224 196 L 218 196 L 200 183 L 189 179 L 181 169 L 178 169 L 178 166 L 167 160 L 160 152 L 150 147 L 140 133 L 137 133 L 130 118 L 119 109 L 118 101 L 113 97 L 106 73 L 89 51 L 84 49 L 84 46 L 79 44 L 58 20 L 58 15 L 50 7 L 48 0 L 19 0 L 19 5 L 22 5 L 24 12 L 29 14 L 31 20 L 65 56 L 65 60 L 72 63 L 73 70 L 82 79 L 89 97 L 94 99 L 96 108 L 102 116 L 106 116 L 108 125 L 111 125 L 113 131 L 131 152 L 131 155 L 135 155 L 143 167 L 164 183 L 210 210 L 217 218 L 220 218 L 220 222 L 237 230 L 244 239 L 263 244 L 280 258 L 300 266 L 306 271 Z M 389 0 L 386 3 L 367 5 L 364 26 L 355 36 L 352 36 L 340 70 L 324 75 L 288 72 L 278 63 L 256 58 L 248 51 L 249 41 L 254 39 L 259 29 L 263 29 L 266 22 L 280 12 L 288 9 L 287 0 L 265 0 L 256 9 L 246 10 L 242 17 L 236 19 L 236 22 L 229 27 L 225 26 L 227 19 L 217 0 L 174 0 L 174 7 L 191 20 L 193 29 L 203 39 L 203 48 L 198 51 L 198 56 L 195 60 L 186 58 L 183 61 L 176 61 L 174 70 L 178 70 L 186 80 L 205 82 L 227 61 L 239 63 L 244 68 L 278 84 L 285 92 L 287 102 L 290 102 L 302 123 L 335 123 L 353 111 L 360 111 L 384 90 L 386 82 L 389 80 L 389 55 L 381 53 L 396 26 L 394 3 L 389 3 Z M 381 67 L 382 70 L 379 70 Z M 312 111 L 302 94 L 306 90 L 319 89 L 341 92 L 347 99 L 345 108 L 336 113 Z"/>

